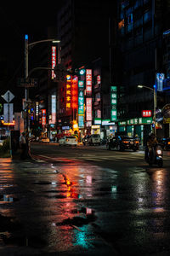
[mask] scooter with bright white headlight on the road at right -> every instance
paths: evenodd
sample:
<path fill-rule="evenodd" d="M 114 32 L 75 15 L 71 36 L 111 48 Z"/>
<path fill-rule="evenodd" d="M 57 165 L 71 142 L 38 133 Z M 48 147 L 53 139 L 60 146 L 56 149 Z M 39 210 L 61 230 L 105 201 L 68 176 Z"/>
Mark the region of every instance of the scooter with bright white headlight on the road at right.
<path fill-rule="evenodd" d="M 146 149 L 145 152 L 145 161 L 149 166 L 157 165 L 159 167 L 163 166 L 163 151 L 161 145 L 156 144 L 153 146 L 152 151 Z"/>

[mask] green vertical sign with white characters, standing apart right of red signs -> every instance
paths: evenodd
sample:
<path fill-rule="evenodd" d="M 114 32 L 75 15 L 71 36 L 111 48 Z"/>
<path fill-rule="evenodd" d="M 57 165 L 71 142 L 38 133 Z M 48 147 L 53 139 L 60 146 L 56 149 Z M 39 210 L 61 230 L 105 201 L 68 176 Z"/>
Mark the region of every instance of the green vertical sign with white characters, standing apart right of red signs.
<path fill-rule="evenodd" d="M 116 86 L 111 86 L 111 121 L 116 121 L 117 119 L 117 88 Z"/>

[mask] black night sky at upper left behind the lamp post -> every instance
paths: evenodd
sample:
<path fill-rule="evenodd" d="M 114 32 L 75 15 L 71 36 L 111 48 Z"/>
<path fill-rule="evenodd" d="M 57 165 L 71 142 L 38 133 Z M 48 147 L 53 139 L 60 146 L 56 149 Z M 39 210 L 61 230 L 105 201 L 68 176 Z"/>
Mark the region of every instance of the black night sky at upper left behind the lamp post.
<path fill-rule="evenodd" d="M 46 27 L 57 25 L 57 12 L 63 2 L 0 3 L 0 95 L 7 89 L 14 92 L 16 79 L 24 76 L 25 34 L 29 35 L 29 43 L 46 39 Z"/>

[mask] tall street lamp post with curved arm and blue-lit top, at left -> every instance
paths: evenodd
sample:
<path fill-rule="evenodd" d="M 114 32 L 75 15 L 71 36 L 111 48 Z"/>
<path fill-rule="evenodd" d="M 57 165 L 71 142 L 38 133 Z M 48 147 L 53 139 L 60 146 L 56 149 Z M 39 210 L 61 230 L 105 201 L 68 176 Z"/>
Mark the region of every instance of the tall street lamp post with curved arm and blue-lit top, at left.
<path fill-rule="evenodd" d="M 28 79 L 29 77 L 29 73 L 28 73 L 28 54 L 29 54 L 29 48 L 31 49 L 31 47 L 33 47 L 36 44 L 41 44 L 41 43 L 47 43 L 47 42 L 52 42 L 54 44 L 59 44 L 60 41 L 56 40 L 54 38 L 52 39 L 45 39 L 45 40 L 41 40 L 41 41 L 36 41 L 33 42 L 31 44 L 28 44 L 28 35 L 25 35 L 25 79 Z M 26 98 L 26 106 L 27 106 L 27 102 L 28 102 L 28 98 L 29 98 L 29 89 L 26 87 L 25 88 L 25 98 Z M 28 113 L 27 113 L 27 107 L 26 107 L 26 131 L 30 130 L 29 128 L 29 124 L 28 124 Z"/>

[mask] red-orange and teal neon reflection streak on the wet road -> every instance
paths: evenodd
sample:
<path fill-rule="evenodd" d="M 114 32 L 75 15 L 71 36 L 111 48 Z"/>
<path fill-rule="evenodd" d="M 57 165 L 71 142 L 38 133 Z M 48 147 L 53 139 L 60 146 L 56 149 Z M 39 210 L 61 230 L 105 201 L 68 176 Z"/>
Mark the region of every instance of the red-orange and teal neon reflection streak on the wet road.
<path fill-rule="evenodd" d="M 92 247 L 91 241 L 94 241 L 94 234 L 88 224 L 95 220 L 95 216 L 91 207 L 83 205 L 83 200 L 93 196 L 94 168 L 71 164 L 60 166 L 58 170 L 63 176 L 65 204 L 61 206 L 62 219 L 56 226 L 59 225 L 61 230 L 65 231 L 67 248 L 88 249 Z"/>

